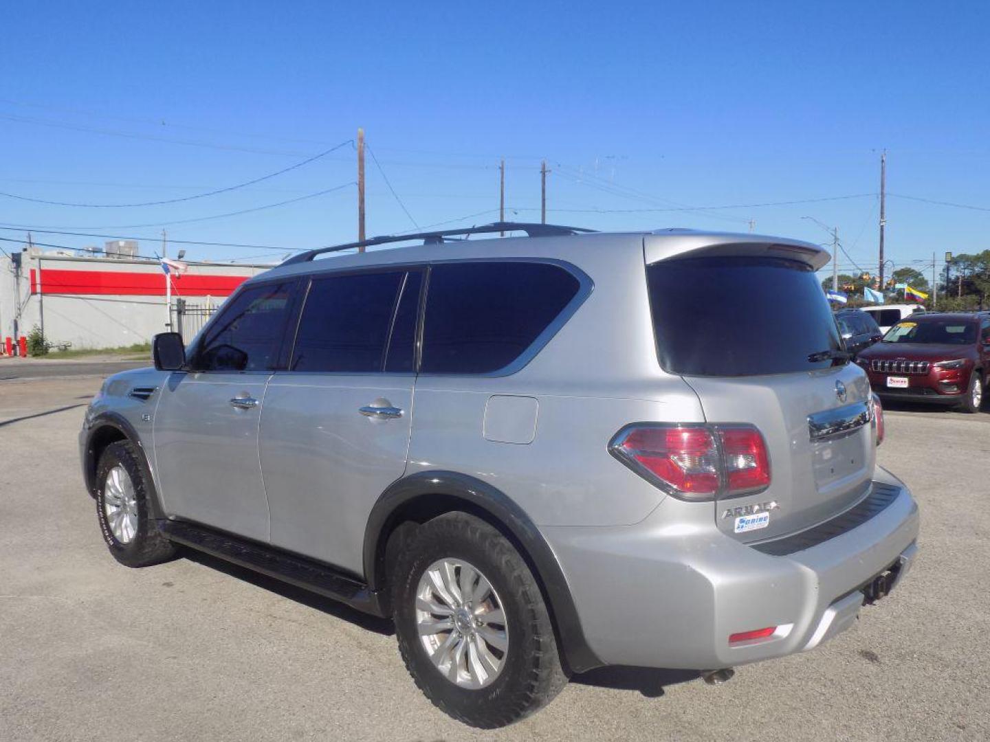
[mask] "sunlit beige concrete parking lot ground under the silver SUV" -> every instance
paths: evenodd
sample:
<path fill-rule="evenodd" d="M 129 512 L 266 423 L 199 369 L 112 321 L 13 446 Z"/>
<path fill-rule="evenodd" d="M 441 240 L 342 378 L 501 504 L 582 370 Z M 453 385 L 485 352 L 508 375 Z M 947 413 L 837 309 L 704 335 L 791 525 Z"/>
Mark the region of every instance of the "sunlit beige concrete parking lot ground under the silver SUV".
<path fill-rule="evenodd" d="M 2 740 L 990 737 L 990 414 L 888 414 L 880 461 L 918 498 L 921 554 L 833 642 L 716 688 L 596 671 L 483 732 L 420 694 L 386 621 L 205 557 L 118 565 L 77 462 L 99 382 L 0 381 Z"/>

